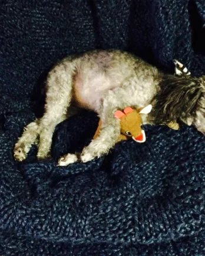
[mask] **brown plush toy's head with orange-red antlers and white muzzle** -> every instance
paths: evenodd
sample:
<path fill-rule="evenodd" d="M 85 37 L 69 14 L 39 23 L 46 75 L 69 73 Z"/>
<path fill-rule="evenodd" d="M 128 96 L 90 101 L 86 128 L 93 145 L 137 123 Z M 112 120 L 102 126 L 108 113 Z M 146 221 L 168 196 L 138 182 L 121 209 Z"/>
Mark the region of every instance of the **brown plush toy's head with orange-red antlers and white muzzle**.
<path fill-rule="evenodd" d="M 121 134 L 131 137 L 135 142 L 145 142 L 146 134 L 142 129 L 141 114 L 148 114 L 151 111 L 151 105 L 139 110 L 133 110 L 127 107 L 123 111 L 117 110 L 115 117 L 120 119 Z"/>

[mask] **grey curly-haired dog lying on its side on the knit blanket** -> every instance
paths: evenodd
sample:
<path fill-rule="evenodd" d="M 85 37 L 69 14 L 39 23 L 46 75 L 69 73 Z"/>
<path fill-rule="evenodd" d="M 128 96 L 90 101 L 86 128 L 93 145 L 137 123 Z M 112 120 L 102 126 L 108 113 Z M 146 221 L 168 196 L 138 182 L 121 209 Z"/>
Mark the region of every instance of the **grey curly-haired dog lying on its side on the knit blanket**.
<path fill-rule="evenodd" d="M 153 113 L 143 123 L 194 124 L 199 130 L 204 117 L 204 78 L 175 77 L 128 52 L 95 50 L 59 62 L 47 79 L 45 114 L 29 124 L 15 145 L 16 160 L 24 160 L 39 137 L 38 159 L 48 157 L 55 126 L 67 118 L 71 104 L 94 110 L 103 126 L 81 154 L 82 162 L 108 153 L 117 142 L 120 124 L 117 109 L 153 104 Z M 202 131 L 202 129 L 201 129 Z M 203 132 L 203 131 L 202 131 Z M 59 165 L 75 162 L 75 155 L 61 157 Z"/>

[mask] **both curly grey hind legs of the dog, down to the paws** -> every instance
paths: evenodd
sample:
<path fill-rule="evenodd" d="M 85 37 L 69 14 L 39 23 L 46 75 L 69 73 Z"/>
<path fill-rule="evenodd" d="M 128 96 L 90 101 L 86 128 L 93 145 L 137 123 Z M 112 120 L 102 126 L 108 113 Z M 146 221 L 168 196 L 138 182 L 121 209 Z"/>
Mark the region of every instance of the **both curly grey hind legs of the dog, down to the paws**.
<path fill-rule="evenodd" d="M 27 157 L 31 145 L 38 142 L 38 158 L 48 156 L 52 133 L 58 123 L 66 119 L 72 93 L 72 78 L 75 73 L 74 61 L 65 59 L 49 73 L 45 114 L 41 119 L 28 124 L 14 147 L 14 157 L 22 161 Z"/>

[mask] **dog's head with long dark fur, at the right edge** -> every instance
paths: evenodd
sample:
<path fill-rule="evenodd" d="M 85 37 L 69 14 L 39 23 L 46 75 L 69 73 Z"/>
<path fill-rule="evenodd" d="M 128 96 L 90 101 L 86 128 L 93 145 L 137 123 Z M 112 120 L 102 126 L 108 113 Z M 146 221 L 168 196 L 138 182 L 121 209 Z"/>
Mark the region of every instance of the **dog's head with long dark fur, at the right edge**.
<path fill-rule="evenodd" d="M 181 120 L 205 134 L 205 76 L 164 76 L 153 105 L 155 123 Z"/>

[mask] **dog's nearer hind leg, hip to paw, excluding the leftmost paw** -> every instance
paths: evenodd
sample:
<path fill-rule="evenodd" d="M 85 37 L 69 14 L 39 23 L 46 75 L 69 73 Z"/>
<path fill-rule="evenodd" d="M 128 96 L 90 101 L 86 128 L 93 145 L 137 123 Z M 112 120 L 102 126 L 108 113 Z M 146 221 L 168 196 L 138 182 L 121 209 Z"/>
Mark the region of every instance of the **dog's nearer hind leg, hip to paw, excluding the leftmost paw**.
<path fill-rule="evenodd" d="M 39 122 L 38 159 L 49 156 L 55 126 L 67 117 L 74 74 L 75 64 L 67 59 L 57 65 L 48 76 L 45 114 Z"/>

